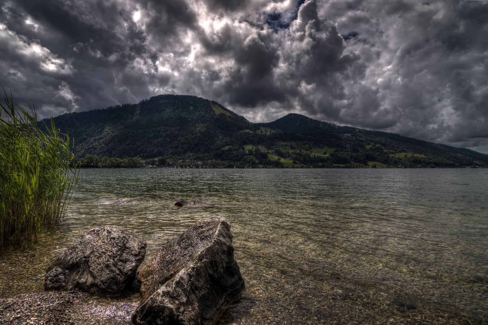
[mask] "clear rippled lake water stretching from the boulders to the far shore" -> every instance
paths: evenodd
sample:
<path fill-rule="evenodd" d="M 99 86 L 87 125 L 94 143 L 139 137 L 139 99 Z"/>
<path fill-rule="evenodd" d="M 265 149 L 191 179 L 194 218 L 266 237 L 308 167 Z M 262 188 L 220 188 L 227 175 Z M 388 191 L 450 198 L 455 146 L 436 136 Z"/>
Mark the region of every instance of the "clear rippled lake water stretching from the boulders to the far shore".
<path fill-rule="evenodd" d="M 49 263 L 91 228 L 134 231 L 147 242 L 146 263 L 197 220 L 221 216 L 246 283 L 222 323 L 488 322 L 487 169 L 83 169 L 80 176 L 61 224 L 39 243 L 0 251 L 0 298 L 42 292 Z M 213 206 L 175 208 L 179 198 Z M 134 292 L 85 301 L 93 317 L 113 324 L 130 324 L 137 303 Z"/>

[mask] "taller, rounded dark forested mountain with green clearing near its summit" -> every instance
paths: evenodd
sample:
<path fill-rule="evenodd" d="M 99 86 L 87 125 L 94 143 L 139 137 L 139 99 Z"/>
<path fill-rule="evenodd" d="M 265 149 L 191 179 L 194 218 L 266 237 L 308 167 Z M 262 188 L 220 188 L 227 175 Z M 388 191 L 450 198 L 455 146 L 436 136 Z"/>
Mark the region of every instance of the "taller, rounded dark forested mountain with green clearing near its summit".
<path fill-rule="evenodd" d="M 212 152 L 225 138 L 256 126 L 217 102 L 196 96 L 160 95 L 54 118 L 56 127 L 75 141 L 75 154 L 109 157 L 179 156 Z"/>

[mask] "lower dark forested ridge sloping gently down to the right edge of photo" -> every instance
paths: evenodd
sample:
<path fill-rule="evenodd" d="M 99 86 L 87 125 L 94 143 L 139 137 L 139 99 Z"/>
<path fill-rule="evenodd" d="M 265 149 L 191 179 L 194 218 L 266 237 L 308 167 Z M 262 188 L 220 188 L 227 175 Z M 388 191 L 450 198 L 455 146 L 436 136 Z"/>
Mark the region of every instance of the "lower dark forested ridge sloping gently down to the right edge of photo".
<path fill-rule="evenodd" d="M 313 120 L 300 114 L 288 114 L 274 122 L 260 123 L 260 125 L 298 133 L 310 140 L 323 143 L 327 147 L 336 148 L 337 150 L 334 150 L 336 156 L 348 156 L 349 162 L 364 157 L 367 161 L 378 161 L 384 164 L 412 164 L 412 167 L 413 164 L 422 165 L 423 163 L 439 167 L 488 164 L 488 155 L 466 148 L 408 138 L 395 133 L 338 126 Z M 405 159 L 397 159 L 395 162 L 397 157 Z M 427 157 L 428 159 L 426 159 Z"/>

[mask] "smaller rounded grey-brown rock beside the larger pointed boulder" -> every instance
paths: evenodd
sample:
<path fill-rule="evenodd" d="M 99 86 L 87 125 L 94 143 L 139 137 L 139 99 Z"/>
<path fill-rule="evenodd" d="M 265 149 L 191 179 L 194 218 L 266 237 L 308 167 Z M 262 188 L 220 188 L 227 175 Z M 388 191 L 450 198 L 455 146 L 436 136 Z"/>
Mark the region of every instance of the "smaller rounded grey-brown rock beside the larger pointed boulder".
<path fill-rule="evenodd" d="M 44 289 L 117 295 L 134 281 L 145 254 L 146 242 L 132 231 L 91 229 L 47 268 Z"/>

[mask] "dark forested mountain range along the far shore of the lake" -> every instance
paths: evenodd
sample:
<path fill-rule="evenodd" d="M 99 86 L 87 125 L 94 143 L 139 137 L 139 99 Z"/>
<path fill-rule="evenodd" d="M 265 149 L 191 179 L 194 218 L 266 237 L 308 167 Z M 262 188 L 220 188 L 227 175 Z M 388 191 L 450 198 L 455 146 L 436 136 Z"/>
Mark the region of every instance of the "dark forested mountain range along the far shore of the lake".
<path fill-rule="evenodd" d="M 288 114 L 251 123 L 217 102 L 160 95 L 54 118 L 85 167 L 487 167 L 488 155 Z M 50 125 L 50 123 L 47 123 Z M 113 158 L 110 158 L 113 157 Z"/>

